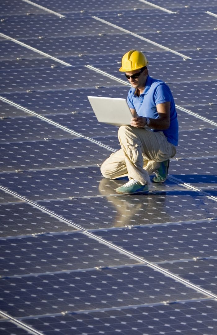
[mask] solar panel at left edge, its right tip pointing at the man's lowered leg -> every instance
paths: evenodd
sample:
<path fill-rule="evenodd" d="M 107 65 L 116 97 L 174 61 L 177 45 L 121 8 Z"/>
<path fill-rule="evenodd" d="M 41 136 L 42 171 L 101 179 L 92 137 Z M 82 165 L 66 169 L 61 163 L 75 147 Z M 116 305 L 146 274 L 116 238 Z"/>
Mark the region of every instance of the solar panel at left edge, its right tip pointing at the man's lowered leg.
<path fill-rule="evenodd" d="M 83 138 L 2 143 L 0 148 L 2 172 L 96 165 L 110 154 L 109 150 Z"/>

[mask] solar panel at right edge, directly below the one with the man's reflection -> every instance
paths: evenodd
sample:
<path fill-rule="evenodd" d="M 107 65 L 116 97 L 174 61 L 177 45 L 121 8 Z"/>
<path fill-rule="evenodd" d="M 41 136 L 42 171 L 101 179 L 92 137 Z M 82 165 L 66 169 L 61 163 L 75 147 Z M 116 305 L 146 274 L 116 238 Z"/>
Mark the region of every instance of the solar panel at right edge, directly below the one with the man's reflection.
<path fill-rule="evenodd" d="M 197 259 L 197 257 L 216 257 L 216 232 L 216 221 L 206 221 L 132 227 L 130 230 L 127 228 L 99 230 L 95 234 L 148 262 L 158 263 L 170 270 L 172 267 L 178 268 L 178 266 L 181 269 L 181 264 L 184 262 L 179 262 L 179 260 L 187 262 L 187 260 Z M 207 241 L 210 241 L 209 245 L 207 245 Z M 195 266 L 198 266 L 198 262 L 195 262 Z M 185 279 L 191 279 L 187 278 L 187 271 L 185 273 Z M 176 272 L 176 274 L 182 276 L 181 273 Z"/>

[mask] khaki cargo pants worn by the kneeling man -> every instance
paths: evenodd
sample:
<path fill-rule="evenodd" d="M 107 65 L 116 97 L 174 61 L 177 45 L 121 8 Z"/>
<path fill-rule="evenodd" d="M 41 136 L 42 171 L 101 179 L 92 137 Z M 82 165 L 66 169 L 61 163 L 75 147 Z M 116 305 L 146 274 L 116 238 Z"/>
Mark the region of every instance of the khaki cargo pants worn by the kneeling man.
<path fill-rule="evenodd" d="M 118 131 L 121 149 L 112 153 L 101 165 L 102 176 L 116 179 L 128 176 L 142 185 L 150 185 L 149 175 L 159 162 L 173 157 L 175 146 L 167 141 L 162 131 L 121 126 Z"/>

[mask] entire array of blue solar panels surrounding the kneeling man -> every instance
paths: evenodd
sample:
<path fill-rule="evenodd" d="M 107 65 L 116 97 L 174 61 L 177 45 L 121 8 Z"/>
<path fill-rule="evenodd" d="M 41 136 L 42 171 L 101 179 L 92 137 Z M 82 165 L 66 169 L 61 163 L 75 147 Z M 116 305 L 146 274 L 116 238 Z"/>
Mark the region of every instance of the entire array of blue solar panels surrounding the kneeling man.
<path fill-rule="evenodd" d="M 1 335 L 216 335 L 216 3 L 0 8 Z M 127 96 L 131 48 L 180 129 L 167 181 L 135 196 L 101 176 L 118 128 L 87 99 Z"/>

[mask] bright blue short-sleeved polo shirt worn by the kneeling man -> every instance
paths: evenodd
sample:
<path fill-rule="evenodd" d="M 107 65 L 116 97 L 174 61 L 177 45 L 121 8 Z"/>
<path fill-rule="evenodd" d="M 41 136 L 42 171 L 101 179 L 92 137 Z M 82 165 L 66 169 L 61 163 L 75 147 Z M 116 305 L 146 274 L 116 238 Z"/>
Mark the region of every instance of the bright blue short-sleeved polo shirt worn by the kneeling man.
<path fill-rule="evenodd" d="M 175 103 L 169 86 L 162 80 L 147 77 L 145 89 L 140 96 L 135 95 L 135 88 L 131 88 L 128 92 L 127 103 L 132 109 L 135 109 L 139 116 L 145 116 L 151 119 L 158 119 L 157 105 L 170 102 L 170 126 L 162 131 L 167 137 L 168 142 L 178 145 L 178 120 L 175 110 Z"/>

